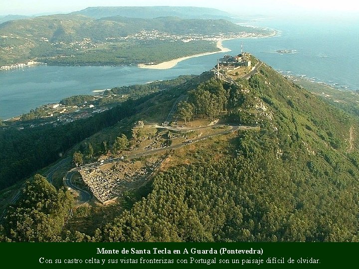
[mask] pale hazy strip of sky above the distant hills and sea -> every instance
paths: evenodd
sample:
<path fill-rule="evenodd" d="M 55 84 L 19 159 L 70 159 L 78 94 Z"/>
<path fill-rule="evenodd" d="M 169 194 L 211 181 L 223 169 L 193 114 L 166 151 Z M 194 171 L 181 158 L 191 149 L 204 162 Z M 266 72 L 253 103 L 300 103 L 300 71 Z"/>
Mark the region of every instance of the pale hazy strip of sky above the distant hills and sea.
<path fill-rule="evenodd" d="M 359 14 L 355 0 L 0 0 L 0 15 L 67 13 L 88 6 L 203 6 L 234 14 Z"/>

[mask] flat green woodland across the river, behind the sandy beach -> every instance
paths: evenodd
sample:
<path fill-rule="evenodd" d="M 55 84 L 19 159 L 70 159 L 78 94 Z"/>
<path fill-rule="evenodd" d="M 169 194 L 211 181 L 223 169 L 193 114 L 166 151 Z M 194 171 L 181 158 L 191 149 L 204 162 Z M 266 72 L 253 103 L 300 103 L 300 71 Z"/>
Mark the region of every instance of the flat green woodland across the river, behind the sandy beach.
<path fill-rule="evenodd" d="M 215 42 L 204 40 L 184 43 L 172 41 L 118 41 L 96 49 L 75 50 L 61 47 L 32 50 L 31 56 L 51 65 L 131 65 L 135 63 L 160 63 L 183 56 L 218 50 Z M 65 56 L 52 57 L 53 54 Z M 51 56 L 51 57 L 49 57 Z"/>

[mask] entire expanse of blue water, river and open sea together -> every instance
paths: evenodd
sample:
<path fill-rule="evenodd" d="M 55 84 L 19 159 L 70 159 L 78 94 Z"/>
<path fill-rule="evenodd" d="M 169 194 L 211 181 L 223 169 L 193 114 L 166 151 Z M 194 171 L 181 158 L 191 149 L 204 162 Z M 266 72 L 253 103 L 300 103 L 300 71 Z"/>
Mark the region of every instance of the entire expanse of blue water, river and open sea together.
<path fill-rule="evenodd" d="M 293 22 L 263 19 L 254 23 L 281 31 L 271 38 L 234 39 L 223 42 L 232 49 L 244 50 L 273 68 L 322 81 L 348 90 L 359 90 L 359 23 Z M 295 49 L 298 53 L 274 51 Z M 0 72 L 0 118 L 21 115 L 43 104 L 56 103 L 78 94 L 116 86 L 144 84 L 172 79 L 179 75 L 200 74 L 211 69 L 224 53 L 179 62 L 167 70 L 142 69 L 137 66 L 46 66 Z"/>

